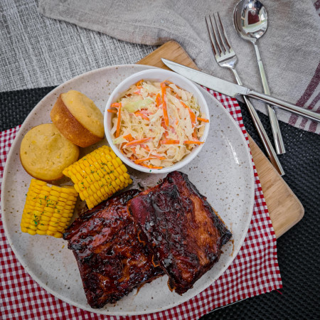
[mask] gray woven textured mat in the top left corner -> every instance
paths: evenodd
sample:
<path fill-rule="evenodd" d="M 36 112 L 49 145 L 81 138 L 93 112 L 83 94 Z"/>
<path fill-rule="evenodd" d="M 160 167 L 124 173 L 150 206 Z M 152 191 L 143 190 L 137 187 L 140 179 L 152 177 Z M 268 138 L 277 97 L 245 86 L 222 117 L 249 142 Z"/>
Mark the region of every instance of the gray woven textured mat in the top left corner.
<path fill-rule="evenodd" d="M 41 16 L 38 0 L 0 0 L 0 92 L 60 85 L 154 49 Z"/>

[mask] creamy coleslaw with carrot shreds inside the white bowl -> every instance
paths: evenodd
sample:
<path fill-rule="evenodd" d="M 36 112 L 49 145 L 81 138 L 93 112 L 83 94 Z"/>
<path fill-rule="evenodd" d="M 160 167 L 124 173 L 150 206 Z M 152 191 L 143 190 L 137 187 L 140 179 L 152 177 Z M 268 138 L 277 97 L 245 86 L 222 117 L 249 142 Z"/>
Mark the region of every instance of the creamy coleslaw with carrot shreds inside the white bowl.
<path fill-rule="evenodd" d="M 191 92 L 172 82 L 141 80 L 111 107 L 117 110 L 113 143 L 136 164 L 150 169 L 173 166 L 203 143 L 199 139 L 206 114 Z"/>

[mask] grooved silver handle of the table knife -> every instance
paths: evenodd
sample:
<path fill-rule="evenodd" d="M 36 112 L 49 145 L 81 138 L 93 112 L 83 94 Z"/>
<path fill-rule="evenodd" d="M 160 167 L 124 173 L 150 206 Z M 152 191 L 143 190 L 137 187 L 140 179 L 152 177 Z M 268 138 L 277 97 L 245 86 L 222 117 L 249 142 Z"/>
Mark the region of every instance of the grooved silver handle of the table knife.
<path fill-rule="evenodd" d="M 301 115 L 302 117 L 306 117 L 316 122 L 320 122 L 319 113 L 304 109 L 302 107 L 298 107 L 297 105 L 292 105 L 291 103 L 278 99 L 276 97 L 271 97 L 270 95 L 265 95 L 261 92 L 257 92 L 254 90 L 249 90 L 245 95 L 247 97 L 252 97 L 252 99 L 270 103 L 270 105 L 274 105 L 276 107 L 279 107 L 280 109 Z"/>

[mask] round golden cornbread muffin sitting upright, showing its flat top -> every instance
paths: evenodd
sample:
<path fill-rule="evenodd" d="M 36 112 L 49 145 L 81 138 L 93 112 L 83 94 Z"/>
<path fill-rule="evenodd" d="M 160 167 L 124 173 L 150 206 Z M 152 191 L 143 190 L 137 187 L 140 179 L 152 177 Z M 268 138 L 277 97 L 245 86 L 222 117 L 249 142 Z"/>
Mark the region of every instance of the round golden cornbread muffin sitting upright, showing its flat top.
<path fill-rule="evenodd" d="M 65 139 L 52 123 L 40 124 L 30 129 L 20 145 L 23 168 L 43 181 L 63 177 L 63 169 L 79 158 L 79 147 Z"/>

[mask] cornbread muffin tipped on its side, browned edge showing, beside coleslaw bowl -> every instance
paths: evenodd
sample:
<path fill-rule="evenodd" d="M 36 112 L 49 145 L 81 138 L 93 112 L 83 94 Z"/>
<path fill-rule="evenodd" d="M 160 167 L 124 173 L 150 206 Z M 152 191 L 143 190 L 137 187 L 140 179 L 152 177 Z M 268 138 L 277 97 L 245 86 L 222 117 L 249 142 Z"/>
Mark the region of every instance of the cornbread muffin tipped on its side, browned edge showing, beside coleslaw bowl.
<path fill-rule="evenodd" d="M 70 90 L 62 93 L 50 117 L 61 134 L 77 146 L 84 148 L 105 137 L 102 113 L 95 102 L 81 92 Z"/>

